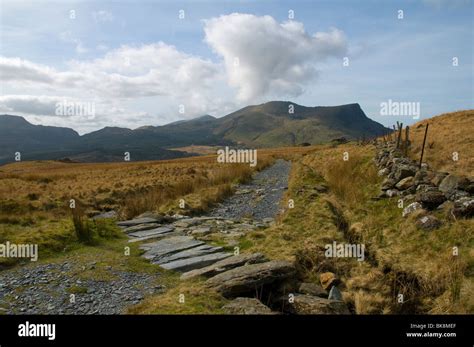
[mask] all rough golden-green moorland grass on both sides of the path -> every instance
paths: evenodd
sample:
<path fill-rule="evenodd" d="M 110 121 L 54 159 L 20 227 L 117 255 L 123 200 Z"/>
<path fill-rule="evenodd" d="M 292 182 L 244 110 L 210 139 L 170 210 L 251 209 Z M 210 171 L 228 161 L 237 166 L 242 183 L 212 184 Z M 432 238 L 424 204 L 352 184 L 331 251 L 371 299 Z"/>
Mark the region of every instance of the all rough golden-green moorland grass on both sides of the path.
<path fill-rule="evenodd" d="M 472 176 L 470 115 L 472 111 L 463 111 L 430 120 L 425 157 L 430 166 Z M 451 122 L 461 123 L 456 132 L 446 128 Z M 422 125 L 412 127 L 410 155 L 414 157 L 419 155 Z M 451 159 L 453 151 L 459 153 L 458 161 Z M 397 198 L 372 199 L 380 192 L 382 180 L 374 155 L 374 146 L 356 143 L 259 151 L 255 169 L 275 158 L 292 160 L 282 204 L 289 199 L 295 204 L 286 208 L 274 226 L 242 236 L 238 240 L 241 252 L 295 261 L 305 281 L 317 282 L 326 271 L 336 273 L 342 279 L 345 300 L 358 314 L 473 313 L 474 220 L 453 220 L 442 210 L 435 211 L 443 224 L 427 232 L 416 227 L 416 214 L 402 217 Z M 145 298 L 130 313 L 220 313 L 226 300 L 206 289 L 202 280 L 180 281 L 179 275 L 148 264 L 140 258 L 136 244 L 130 245 L 131 255 L 123 257 L 127 240 L 113 225 L 93 225 L 100 236 L 97 242 L 79 243 L 67 204 L 73 197 L 86 215 L 115 209 L 128 218 L 145 211 L 182 211 L 178 200 L 183 198 L 185 213 L 204 212 L 230 194 L 234 183 L 249 179 L 251 170 L 248 165 L 223 168 L 215 156 L 6 165 L 0 167 L 0 242 L 39 243 L 45 250 L 42 262 L 97 261 L 97 269 L 84 276 L 101 277 L 100 269 L 107 266 L 158 273 L 167 290 Z M 365 244 L 365 261 L 326 258 L 324 245 L 333 241 Z M 453 256 L 453 247 L 459 248 L 459 256 Z M 180 294 L 185 295 L 186 304 L 178 301 Z M 403 304 L 397 301 L 399 294 L 404 296 Z"/>

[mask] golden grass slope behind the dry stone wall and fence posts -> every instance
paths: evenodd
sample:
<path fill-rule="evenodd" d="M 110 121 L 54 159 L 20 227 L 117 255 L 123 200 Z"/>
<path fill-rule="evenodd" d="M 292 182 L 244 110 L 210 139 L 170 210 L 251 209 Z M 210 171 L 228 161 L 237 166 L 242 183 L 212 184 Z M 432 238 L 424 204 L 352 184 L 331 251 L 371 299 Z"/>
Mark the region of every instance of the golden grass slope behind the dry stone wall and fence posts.
<path fill-rule="evenodd" d="M 429 124 L 423 161 L 437 171 L 474 175 L 474 110 L 445 113 L 410 126 L 410 156 L 419 160 L 425 126 Z M 453 160 L 453 153 L 458 160 Z"/>

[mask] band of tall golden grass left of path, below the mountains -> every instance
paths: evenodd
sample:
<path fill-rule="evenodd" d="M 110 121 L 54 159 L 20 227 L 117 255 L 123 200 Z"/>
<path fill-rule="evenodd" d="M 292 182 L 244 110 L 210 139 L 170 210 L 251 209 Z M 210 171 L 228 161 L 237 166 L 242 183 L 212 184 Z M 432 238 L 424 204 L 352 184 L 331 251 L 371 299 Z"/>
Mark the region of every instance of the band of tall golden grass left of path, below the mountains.
<path fill-rule="evenodd" d="M 273 157 L 295 157 L 310 150 L 308 147 L 259 150 L 256 169 L 268 165 Z M 61 206 L 70 199 L 80 201 L 89 211 L 120 209 L 140 195 L 148 200 L 143 202 L 145 207 L 159 208 L 169 199 L 203 187 L 248 179 L 250 174 L 249 165 L 220 164 L 215 155 L 129 163 L 8 164 L 0 167 L 0 217 L 53 210 L 60 214 Z"/>

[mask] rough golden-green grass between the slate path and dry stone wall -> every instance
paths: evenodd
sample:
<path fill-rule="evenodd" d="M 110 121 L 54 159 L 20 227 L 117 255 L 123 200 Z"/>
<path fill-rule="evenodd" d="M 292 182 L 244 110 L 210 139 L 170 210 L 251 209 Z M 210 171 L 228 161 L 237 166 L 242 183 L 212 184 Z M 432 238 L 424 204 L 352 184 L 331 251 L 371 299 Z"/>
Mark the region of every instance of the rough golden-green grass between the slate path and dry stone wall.
<path fill-rule="evenodd" d="M 372 146 L 346 144 L 304 156 L 293 166 L 286 196 L 295 208 L 275 227 L 241 242 L 251 245 L 248 252 L 296 260 L 305 280 L 335 272 L 356 313 L 473 313 L 474 221 L 449 221 L 435 212 L 443 225 L 426 232 L 414 217 L 402 217 L 397 198 L 372 200 L 380 180 L 374 154 Z M 329 186 L 327 193 L 315 193 L 321 184 Z M 341 220 L 350 227 L 341 228 Z M 326 258 L 324 245 L 333 241 L 365 244 L 366 260 Z"/>

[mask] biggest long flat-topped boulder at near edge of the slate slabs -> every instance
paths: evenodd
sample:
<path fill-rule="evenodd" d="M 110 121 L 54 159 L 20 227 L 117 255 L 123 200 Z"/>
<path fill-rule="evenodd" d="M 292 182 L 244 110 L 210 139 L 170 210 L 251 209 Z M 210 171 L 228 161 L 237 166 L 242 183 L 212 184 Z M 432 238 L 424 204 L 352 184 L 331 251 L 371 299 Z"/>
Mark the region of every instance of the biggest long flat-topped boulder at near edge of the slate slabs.
<path fill-rule="evenodd" d="M 234 268 L 208 279 L 206 284 L 225 297 L 235 297 L 255 293 L 260 286 L 281 282 L 295 273 L 295 267 L 290 262 L 274 260 Z"/>

